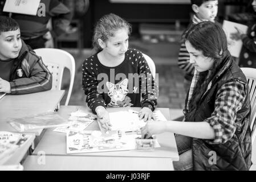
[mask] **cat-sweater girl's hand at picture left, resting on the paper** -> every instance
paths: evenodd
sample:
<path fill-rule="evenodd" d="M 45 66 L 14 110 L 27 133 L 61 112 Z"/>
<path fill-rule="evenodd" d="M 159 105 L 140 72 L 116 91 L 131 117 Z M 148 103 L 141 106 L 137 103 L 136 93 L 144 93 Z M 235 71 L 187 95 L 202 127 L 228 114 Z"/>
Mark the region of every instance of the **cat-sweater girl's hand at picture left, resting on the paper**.
<path fill-rule="evenodd" d="M 108 111 L 103 106 L 97 106 L 95 109 L 97 113 L 97 120 L 100 122 L 101 127 L 105 131 L 111 130 L 111 123 L 109 121 Z"/>

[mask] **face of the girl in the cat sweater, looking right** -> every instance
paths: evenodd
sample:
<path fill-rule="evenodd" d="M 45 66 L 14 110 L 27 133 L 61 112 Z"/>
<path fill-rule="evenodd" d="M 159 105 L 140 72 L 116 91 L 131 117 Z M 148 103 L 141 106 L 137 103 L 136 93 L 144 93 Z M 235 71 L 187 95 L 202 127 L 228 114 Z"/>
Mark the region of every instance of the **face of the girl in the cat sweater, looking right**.
<path fill-rule="evenodd" d="M 114 36 L 108 38 L 105 42 L 106 47 L 103 49 L 114 57 L 123 57 L 128 49 L 128 31 L 121 28 L 115 32 Z"/>

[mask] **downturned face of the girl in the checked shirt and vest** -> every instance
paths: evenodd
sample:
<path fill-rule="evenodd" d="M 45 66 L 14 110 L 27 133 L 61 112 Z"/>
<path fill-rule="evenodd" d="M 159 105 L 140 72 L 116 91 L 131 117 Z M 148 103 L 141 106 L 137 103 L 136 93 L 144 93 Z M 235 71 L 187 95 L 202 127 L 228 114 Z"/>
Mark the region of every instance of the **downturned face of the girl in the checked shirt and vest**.
<path fill-rule="evenodd" d="M 198 72 L 208 71 L 213 67 L 214 60 L 212 57 L 205 57 L 202 51 L 195 49 L 188 40 L 185 45 L 190 55 L 189 63 L 193 64 Z"/>

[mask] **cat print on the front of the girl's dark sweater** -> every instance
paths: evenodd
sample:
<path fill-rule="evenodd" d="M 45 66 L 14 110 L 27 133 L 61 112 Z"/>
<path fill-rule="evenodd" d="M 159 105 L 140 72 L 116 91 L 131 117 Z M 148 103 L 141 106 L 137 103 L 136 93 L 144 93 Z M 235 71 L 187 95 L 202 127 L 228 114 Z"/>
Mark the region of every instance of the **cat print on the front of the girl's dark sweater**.
<path fill-rule="evenodd" d="M 132 106 L 131 98 L 127 96 L 128 93 L 128 79 L 125 78 L 118 84 L 112 84 L 111 82 L 106 83 L 108 88 L 108 96 L 111 98 L 108 106 L 112 107 L 125 107 Z"/>

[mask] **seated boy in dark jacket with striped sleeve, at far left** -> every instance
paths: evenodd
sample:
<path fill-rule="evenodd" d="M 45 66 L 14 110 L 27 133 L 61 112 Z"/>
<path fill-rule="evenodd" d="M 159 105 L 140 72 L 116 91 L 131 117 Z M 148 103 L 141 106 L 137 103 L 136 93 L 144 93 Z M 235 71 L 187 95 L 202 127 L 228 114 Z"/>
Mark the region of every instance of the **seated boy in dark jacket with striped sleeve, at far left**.
<path fill-rule="evenodd" d="M 0 92 L 26 94 L 51 86 L 51 73 L 21 39 L 18 23 L 0 16 Z"/>

